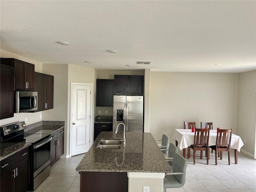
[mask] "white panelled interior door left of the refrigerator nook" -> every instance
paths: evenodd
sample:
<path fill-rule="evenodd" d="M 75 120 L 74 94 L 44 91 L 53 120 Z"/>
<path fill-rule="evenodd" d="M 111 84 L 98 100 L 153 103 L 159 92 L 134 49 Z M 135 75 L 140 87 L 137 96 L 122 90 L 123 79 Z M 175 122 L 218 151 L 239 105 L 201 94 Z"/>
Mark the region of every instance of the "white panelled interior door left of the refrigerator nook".
<path fill-rule="evenodd" d="M 91 86 L 71 84 L 71 156 L 90 148 Z"/>

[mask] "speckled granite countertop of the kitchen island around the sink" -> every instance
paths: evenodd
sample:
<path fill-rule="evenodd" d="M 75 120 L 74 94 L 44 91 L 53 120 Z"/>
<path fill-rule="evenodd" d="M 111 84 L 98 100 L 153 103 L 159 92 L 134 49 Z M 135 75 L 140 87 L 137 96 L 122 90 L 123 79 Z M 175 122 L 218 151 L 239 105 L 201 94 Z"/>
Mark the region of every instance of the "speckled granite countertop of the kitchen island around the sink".
<path fill-rule="evenodd" d="M 122 145 L 118 150 L 96 149 L 102 138 L 122 139 L 122 133 L 101 132 L 77 166 L 76 171 L 172 172 L 151 133 L 126 132 L 126 146 Z"/>

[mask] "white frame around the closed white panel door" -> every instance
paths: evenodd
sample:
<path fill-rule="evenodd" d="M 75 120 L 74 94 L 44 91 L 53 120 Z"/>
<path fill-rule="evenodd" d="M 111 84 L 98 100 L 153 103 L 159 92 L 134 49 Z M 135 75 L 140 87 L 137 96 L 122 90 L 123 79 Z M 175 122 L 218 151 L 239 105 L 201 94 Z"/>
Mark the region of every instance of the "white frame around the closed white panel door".
<path fill-rule="evenodd" d="M 71 109 L 72 109 L 72 88 L 73 88 L 73 85 L 87 85 L 87 86 L 90 86 L 91 87 L 91 93 L 90 93 L 90 100 L 91 100 L 91 103 L 90 103 L 90 146 L 89 148 L 92 146 L 92 143 L 93 143 L 93 84 L 92 83 L 79 83 L 79 82 L 70 82 L 70 110 L 69 110 L 69 127 L 70 127 L 70 130 L 69 130 L 69 157 L 71 157 L 71 142 L 72 142 L 72 113 L 71 113 Z"/>

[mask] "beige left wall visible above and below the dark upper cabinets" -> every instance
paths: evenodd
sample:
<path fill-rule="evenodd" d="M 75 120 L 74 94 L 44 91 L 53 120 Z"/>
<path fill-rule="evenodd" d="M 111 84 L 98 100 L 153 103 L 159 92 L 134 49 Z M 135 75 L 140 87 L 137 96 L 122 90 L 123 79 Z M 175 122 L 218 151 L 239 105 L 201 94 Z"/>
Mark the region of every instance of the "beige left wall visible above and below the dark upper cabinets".
<path fill-rule="evenodd" d="M 35 65 L 35 71 L 36 72 L 42 72 L 42 63 L 36 62 L 34 60 L 30 60 L 28 58 L 12 54 L 10 52 L 6 52 L 4 50 L 0 50 L 0 57 L 1 58 L 15 58 L 18 60 L 22 60 L 25 62 L 29 62 Z M 32 124 L 38 121 L 41 121 L 40 119 L 40 114 L 42 112 L 36 112 L 36 113 L 14 113 L 14 117 L 12 118 L 7 118 L 7 119 L 2 119 L 0 120 L 0 125 L 6 125 L 14 122 L 20 122 L 20 121 L 25 121 L 25 118 L 28 118 L 28 122 L 26 124 Z"/>

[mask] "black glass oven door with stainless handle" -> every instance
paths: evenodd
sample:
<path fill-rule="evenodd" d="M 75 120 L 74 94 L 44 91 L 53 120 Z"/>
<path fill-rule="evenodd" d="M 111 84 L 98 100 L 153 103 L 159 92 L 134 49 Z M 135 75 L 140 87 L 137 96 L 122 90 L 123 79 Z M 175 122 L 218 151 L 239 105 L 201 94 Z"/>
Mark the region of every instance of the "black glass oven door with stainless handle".
<path fill-rule="evenodd" d="M 52 137 L 48 137 L 39 143 L 34 144 L 34 177 L 38 175 L 45 167 L 50 164 L 50 141 Z"/>

